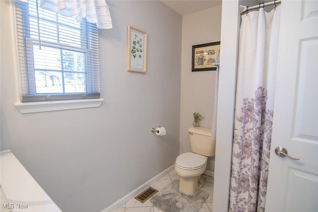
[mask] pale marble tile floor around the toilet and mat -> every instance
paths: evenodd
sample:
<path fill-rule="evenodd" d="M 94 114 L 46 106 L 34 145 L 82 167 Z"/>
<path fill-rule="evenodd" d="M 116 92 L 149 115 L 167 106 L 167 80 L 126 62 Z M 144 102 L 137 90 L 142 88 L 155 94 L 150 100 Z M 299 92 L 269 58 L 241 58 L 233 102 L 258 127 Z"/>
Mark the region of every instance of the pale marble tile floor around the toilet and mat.
<path fill-rule="evenodd" d="M 201 190 L 207 191 L 209 193 L 208 199 L 205 201 L 199 212 L 212 212 L 213 206 L 213 186 L 214 186 L 214 179 L 208 175 L 203 174 L 202 178 L 204 179 L 204 184 Z M 179 176 L 173 169 L 167 175 L 160 178 L 157 182 L 151 185 L 151 187 L 160 191 L 173 180 L 179 179 Z M 117 208 L 114 212 L 161 212 L 159 209 L 154 207 L 150 203 L 150 199 L 147 200 L 145 203 L 140 203 L 139 201 L 132 198 L 119 208 Z"/>

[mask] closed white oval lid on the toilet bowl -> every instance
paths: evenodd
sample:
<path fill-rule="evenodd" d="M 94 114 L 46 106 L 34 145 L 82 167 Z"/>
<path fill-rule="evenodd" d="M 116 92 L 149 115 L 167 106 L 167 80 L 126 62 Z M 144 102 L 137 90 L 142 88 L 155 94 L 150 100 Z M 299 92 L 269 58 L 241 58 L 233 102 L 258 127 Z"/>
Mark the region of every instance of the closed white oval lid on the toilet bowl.
<path fill-rule="evenodd" d="M 175 162 L 182 169 L 193 170 L 205 166 L 207 157 L 193 152 L 186 152 L 180 154 Z"/>

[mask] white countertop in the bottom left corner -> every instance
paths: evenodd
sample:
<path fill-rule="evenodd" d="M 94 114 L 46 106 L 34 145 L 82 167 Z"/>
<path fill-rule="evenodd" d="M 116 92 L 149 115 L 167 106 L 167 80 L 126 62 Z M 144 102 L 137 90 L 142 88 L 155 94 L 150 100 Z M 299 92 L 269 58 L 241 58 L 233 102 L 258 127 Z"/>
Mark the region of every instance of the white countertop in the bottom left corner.
<path fill-rule="evenodd" d="M 0 153 L 0 186 L 8 201 L 0 211 L 62 212 L 11 151 Z"/>

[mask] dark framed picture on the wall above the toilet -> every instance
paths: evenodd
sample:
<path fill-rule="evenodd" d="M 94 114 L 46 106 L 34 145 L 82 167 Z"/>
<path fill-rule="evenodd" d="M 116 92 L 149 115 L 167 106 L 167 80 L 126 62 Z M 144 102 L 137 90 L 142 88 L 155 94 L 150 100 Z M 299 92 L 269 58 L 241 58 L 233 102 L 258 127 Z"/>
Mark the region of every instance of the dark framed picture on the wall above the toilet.
<path fill-rule="evenodd" d="M 192 46 L 192 71 L 214 71 L 219 63 L 220 41 Z"/>

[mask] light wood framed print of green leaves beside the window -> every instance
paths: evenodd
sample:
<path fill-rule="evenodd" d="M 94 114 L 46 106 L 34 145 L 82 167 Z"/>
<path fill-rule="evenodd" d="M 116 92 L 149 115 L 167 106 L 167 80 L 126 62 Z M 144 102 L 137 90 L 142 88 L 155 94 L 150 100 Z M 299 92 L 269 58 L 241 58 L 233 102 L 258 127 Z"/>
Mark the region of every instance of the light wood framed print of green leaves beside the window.
<path fill-rule="evenodd" d="M 131 25 L 127 28 L 127 71 L 146 72 L 147 32 Z"/>

